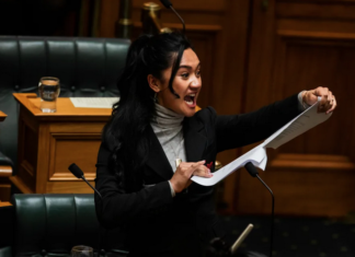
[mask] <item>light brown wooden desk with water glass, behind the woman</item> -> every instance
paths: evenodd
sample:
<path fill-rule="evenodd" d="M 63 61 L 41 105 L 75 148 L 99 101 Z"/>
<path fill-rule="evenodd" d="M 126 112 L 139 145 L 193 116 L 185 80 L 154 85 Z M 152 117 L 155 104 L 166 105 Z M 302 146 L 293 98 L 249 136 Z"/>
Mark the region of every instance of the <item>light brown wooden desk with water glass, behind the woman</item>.
<path fill-rule="evenodd" d="M 76 108 L 59 97 L 57 113 L 44 114 L 36 94 L 13 96 L 20 103 L 19 171 L 11 182 L 26 194 L 92 192 L 68 166 L 77 163 L 94 180 L 101 131 L 112 109 Z"/>

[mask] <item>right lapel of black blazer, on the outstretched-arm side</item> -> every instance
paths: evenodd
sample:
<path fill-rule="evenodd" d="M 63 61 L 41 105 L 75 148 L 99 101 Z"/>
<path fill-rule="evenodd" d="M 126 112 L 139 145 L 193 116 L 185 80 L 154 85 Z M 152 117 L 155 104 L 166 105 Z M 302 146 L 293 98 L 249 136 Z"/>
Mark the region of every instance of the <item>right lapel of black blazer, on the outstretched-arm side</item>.
<path fill-rule="evenodd" d="M 187 162 L 202 161 L 207 147 L 205 126 L 195 116 L 184 120 L 184 139 Z"/>

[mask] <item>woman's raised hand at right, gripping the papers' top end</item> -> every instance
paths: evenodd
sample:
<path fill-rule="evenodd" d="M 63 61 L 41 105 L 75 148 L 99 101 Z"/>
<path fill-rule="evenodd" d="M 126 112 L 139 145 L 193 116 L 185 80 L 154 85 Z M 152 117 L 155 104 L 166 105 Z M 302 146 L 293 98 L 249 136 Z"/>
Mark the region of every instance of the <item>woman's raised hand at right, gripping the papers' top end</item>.
<path fill-rule="evenodd" d="M 302 101 L 308 105 L 313 105 L 318 101 L 318 96 L 321 96 L 318 112 L 330 114 L 336 107 L 335 96 L 328 87 L 319 86 L 316 90 L 306 91 L 302 93 Z"/>

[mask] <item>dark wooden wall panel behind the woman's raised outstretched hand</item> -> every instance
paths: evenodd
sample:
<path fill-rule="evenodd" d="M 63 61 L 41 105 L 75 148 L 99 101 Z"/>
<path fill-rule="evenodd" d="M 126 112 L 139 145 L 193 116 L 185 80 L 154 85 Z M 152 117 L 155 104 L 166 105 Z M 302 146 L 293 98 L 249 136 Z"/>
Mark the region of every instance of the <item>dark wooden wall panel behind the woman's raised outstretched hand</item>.
<path fill-rule="evenodd" d="M 306 135 L 295 139 L 293 143 L 282 148 L 283 152 L 294 153 L 320 153 L 320 154 L 351 154 L 351 145 L 340 142 L 348 142 L 353 137 L 354 114 L 344 115 L 348 109 L 355 109 L 351 94 L 355 93 L 353 84 L 355 78 L 351 71 L 355 69 L 355 40 L 353 43 L 327 40 L 318 38 L 297 39 L 283 37 L 284 56 L 275 55 L 275 77 L 283 74 L 282 79 L 275 81 L 275 92 L 290 95 L 296 91 L 322 85 L 329 87 L 342 103 L 333 117 Z M 308 44 L 309 43 L 309 44 Z M 353 46 L 353 47 L 352 47 Z M 279 58 L 278 58 L 279 57 Z M 277 65 L 277 62 L 282 65 Z M 278 74 L 278 75 L 277 75 Z M 346 132 L 344 131 L 346 128 Z M 353 128 L 353 129 L 352 129 Z M 337 136 L 337 137 L 336 137 Z M 323 138 L 329 138 L 323 140 Z"/>

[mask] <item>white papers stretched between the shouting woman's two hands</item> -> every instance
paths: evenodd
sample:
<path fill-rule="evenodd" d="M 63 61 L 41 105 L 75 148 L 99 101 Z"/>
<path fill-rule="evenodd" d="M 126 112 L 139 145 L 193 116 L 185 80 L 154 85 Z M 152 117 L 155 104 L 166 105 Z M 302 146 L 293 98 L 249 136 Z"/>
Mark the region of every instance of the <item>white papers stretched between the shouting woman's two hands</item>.
<path fill-rule="evenodd" d="M 331 115 L 325 115 L 325 113 L 317 113 L 319 102 L 306 109 L 304 113 L 298 115 L 291 121 L 286 124 L 284 127 L 278 129 L 275 133 L 268 137 L 263 143 L 253 148 L 249 152 L 244 153 L 237 160 L 225 165 L 219 171 L 214 173 L 213 177 L 198 177 L 193 176 L 191 179 L 203 186 L 213 186 L 218 182 L 227 177 L 232 172 L 240 167 L 243 167 L 245 163 L 252 162 L 256 167 L 265 171 L 267 163 L 266 148 L 276 149 L 279 145 L 288 142 L 289 140 L 296 138 L 297 136 L 306 132 L 310 128 L 325 121 Z"/>

